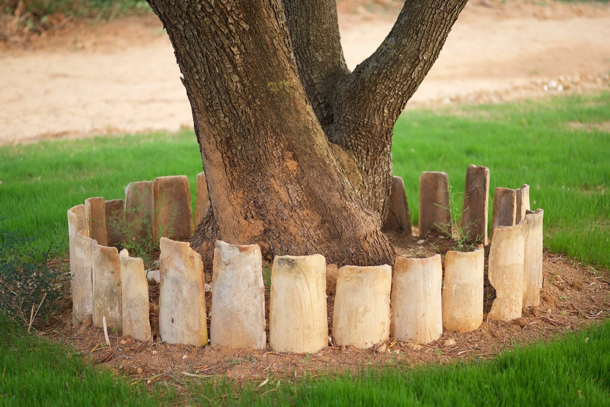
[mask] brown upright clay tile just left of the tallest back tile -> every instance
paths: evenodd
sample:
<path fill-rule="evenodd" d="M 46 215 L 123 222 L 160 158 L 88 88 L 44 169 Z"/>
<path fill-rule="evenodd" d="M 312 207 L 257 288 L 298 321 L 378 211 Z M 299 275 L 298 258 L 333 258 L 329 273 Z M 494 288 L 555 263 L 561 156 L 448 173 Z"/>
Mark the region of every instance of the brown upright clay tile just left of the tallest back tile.
<path fill-rule="evenodd" d="M 449 177 L 445 172 L 424 171 L 420 177 L 420 237 L 428 233 L 451 235 Z"/>

